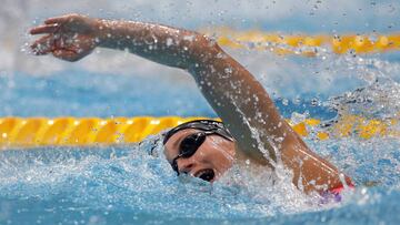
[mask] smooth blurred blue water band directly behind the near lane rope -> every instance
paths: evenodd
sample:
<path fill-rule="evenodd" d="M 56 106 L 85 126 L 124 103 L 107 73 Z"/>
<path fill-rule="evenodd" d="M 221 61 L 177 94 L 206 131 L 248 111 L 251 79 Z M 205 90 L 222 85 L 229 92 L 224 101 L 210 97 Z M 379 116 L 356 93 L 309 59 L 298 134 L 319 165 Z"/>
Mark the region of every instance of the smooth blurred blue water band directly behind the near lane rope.
<path fill-rule="evenodd" d="M 172 82 L 84 71 L 64 71 L 51 76 L 0 74 L 3 90 L 0 116 L 217 116 L 193 82 Z M 312 98 L 287 103 L 282 100 L 277 99 L 276 104 L 286 117 L 293 110 L 299 113 L 308 110 L 310 116 L 322 119 L 336 115 L 330 109 L 313 105 Z"/>

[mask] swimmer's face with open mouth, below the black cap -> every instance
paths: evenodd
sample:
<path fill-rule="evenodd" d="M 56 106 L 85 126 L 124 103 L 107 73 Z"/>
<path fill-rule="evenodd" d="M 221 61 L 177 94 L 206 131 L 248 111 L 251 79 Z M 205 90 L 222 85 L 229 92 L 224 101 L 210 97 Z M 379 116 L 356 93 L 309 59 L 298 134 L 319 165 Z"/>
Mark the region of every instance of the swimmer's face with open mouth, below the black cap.
<path fill-rule="evenodd" d="M 201 131 L 186 129 L 173 134 L 164 145 L 164 154 L 171 164 L 173 158 L 180 153 L 182 141 L 191 134 Z M 210 182 L 218 180 L 233 164 L 234 143 L 222 136 L 207 135 L 206 141 L 198 147 L 190 157 L 179 157 L 177 160 L 178 172 L 187 173 L 191 176 L 202 177 L 212 170 L 214 176 Z"/>

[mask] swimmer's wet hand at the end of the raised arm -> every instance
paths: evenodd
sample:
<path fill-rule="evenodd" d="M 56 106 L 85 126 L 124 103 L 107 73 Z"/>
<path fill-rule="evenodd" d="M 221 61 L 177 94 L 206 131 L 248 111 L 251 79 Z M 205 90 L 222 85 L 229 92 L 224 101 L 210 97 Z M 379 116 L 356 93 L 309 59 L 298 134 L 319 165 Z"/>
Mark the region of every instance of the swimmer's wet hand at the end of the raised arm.
<path fill-rule="evenodd" d="M 80 14 L 47 19 L 43 25 L 30 30 L 31 34 L 46 34 L 34 41 L 31 49 L 36 55 L 52 53 L 62 60 L 78 61 L 90 54 L 99 44 L 98 22 Z"/>

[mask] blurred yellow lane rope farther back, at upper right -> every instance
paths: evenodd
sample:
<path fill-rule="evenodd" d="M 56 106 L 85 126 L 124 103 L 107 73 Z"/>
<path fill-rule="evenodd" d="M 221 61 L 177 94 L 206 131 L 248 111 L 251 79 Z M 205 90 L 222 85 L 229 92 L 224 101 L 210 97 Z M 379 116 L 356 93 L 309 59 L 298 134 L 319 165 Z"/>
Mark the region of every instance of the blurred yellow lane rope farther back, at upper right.
<path fill-rule="evenodd" d="M 217 35 L 218 43 L 233 49 L 247 48 L 270 50 L 278 54 L 316 55 L 316 47 L 328 48 L 334 53 L 350 51 L 364 54 L 400 50 L 400 34 L 343 34 L 343 35 L 286 35 L 258 30 L 236 31 L 229 28 L 203 30 L 209 35 Z"/>

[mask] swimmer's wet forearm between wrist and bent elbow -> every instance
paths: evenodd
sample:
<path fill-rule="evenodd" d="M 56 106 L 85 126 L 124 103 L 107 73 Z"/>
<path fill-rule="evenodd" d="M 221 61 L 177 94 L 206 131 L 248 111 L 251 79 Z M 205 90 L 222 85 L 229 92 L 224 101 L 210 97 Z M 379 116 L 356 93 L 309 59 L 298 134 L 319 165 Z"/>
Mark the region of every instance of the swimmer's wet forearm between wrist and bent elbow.
<path fill-rule="evenodd" d="M 99 47 L 128 50 L 151 61 L 188 69 L 194 62 L 197 32 L 160 24 L 98 20 Z"/>

